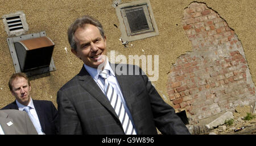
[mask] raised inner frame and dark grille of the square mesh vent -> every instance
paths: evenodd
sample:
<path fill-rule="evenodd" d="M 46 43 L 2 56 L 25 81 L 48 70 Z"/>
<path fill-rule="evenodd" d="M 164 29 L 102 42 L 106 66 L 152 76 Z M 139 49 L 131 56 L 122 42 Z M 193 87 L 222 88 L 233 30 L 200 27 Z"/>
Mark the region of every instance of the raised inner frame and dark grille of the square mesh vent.
<path fill-rule="evenodd" d="M 127 35 L 136 35 L 154 31 L 147 4 L 124 7 L 121 9 Z"/>

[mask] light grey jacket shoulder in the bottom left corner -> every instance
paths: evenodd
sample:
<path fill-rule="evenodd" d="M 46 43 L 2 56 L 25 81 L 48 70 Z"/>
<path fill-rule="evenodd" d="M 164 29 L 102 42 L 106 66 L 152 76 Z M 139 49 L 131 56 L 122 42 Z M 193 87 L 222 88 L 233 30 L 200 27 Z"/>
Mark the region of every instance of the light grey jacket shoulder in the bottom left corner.
<path fill-rule="evenodd" d="M 7 123 L 9 123 L 9 126 Z M 13 123 L 13 124 L 11 124 Z M 36 129 L 25 111 L 0 110 L 0 124 L 5 135 L 37 135 Z"/>

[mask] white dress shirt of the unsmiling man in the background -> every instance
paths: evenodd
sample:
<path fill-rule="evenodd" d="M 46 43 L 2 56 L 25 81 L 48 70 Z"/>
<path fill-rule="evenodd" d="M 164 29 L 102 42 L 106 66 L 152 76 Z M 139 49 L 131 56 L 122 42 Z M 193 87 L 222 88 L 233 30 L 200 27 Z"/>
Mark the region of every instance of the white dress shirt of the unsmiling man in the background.
<path fill-rule="evenodd" d="M 24 108 L 27 107 L 27 106 L 30 107 L 30 113 L 32 114 L 32 116 L 34 116 L 34 118 L 36 119 L 36 122 L 38 122 L 39 126 L 40 126 L 39 135 L 44 135 L 44 132 L 42 131 L 42 127 L 41 127 L 41 124 L 40 124 L 40 121 L 39 121 L 39 118 L 38 118 L 38 114 L 36 114 L 36 110 L 35 110 L 35 106 L 34 106 L 32 98 L 30 97 L 30 103 L 28 103 L 27 106 L 22 105 L 17 100 L 16 100 L 16 103 L 17 103 L 17 106 L 19 107 L 20 111 L 23 111 Z"/>

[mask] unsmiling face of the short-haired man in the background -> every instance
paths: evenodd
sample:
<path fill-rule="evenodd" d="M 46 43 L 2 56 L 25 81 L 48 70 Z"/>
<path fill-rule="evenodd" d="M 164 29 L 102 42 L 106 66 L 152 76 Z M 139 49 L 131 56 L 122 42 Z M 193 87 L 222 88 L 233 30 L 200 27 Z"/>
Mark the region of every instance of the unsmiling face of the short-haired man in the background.
<path fill-rule="evenodd" d="M 24 106 L 27 106 L 30 102 L 31 86 L 28 85 L 28 81 L 24 77 L 17 77 L 11 82 L 13 94 L 16 100 Z"/>

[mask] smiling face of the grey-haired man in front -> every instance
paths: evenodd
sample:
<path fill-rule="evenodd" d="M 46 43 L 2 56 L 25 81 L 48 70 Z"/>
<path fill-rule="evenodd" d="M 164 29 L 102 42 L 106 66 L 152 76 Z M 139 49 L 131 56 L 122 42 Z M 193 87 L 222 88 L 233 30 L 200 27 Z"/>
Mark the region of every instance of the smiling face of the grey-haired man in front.
<path fill-rule="evenodd" d="M 84 64 L 97 68 L 106 60 L 106 37 L 102 37 L 100 30 L 92 24 L 85 24 L 77 28 L 75 34 L 77 50 L 71 49 Z"/>

